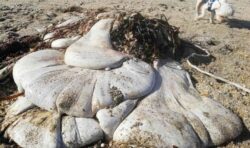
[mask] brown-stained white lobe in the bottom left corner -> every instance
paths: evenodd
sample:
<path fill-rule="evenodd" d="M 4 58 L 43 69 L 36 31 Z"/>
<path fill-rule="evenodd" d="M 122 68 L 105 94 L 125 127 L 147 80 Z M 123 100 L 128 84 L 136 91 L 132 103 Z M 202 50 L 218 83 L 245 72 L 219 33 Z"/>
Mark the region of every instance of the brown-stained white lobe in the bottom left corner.
<path fill-rule="evenodd" d="M 18 118 L 17 118 L 18 117 Z M 60 147 L 58 116 L 46 111 L 30 110 L 17 116 L 8 127 L 6 134 L 20 147 Z"/>

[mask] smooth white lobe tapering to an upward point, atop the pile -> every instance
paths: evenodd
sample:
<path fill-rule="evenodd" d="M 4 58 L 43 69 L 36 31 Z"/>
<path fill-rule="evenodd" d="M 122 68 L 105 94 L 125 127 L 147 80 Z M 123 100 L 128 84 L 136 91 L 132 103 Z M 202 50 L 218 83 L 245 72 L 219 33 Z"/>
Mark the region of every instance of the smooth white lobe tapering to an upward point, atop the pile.
<path fill-rule="evenodd" d="M 112 49 L 112 23 L 113 19 L 98 21 L 85 36 L 67 48 L 65 63 L 88 69 L 119 67 L 126 56 Z"/>

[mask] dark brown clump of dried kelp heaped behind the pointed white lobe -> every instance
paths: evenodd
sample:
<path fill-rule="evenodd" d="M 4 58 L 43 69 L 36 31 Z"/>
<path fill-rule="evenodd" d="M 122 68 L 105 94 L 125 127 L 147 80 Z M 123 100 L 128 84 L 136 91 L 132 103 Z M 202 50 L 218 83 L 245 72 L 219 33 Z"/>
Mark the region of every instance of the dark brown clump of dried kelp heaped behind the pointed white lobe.
<path fill-rule="evenodd" d="M 123 17 L 111 31 L 116 50 L 152 63 L 158 58 L 178 55 L 180 40 L 177 27 L 168 24 L 165 17 L 149 19 L 140 13 Z"/>

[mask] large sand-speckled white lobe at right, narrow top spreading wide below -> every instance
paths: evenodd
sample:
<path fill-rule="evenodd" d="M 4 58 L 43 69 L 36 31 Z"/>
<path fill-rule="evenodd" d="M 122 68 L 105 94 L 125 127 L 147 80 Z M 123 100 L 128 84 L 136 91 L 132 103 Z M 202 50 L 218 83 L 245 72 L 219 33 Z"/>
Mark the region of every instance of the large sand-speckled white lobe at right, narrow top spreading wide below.
<path fill-rule="evenodd" d="M 240 134 L 237 116 L 200 97 L 178 64 L 161 64 L 155 89 L 120 124 L 115 141 L 147 147 L 201 147 L 219 145 Z"/>

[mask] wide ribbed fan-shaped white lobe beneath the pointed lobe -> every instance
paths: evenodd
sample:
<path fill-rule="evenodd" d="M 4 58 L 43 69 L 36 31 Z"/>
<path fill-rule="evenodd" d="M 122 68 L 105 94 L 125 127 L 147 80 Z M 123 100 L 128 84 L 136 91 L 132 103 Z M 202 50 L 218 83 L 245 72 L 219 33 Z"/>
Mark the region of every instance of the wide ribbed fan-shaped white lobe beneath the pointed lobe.
<path fill-rule="evenodd" d="M 13 70 L 19 91 L 25 90 L 30 102 L 49 111 L 93 117 L 102 108 L 138 99 L 154 87 L 153 68 L 140 60 L 105 71 L 67 66 L 61 59 L 61 52 L 37 51 L 20 59 Z"/>

